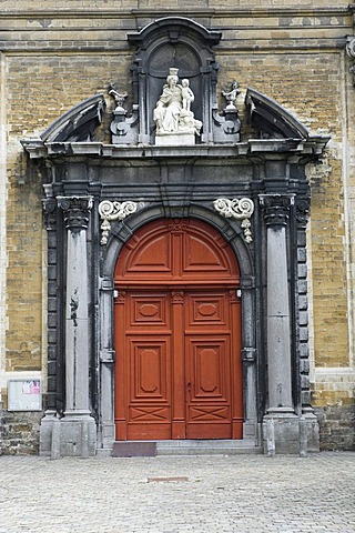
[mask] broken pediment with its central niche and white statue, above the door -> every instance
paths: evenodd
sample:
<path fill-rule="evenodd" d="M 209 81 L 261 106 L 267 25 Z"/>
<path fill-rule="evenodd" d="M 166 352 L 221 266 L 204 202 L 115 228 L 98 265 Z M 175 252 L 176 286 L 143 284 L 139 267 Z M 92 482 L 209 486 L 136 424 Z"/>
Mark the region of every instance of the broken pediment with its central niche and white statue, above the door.
<path fill-rule="evenodd" d="M 260 135 L 241 142 L 236 105 L 241 89 L 235 80 L 221 91 L 225 108 L 217 107 L 220 66 L 213 47 L 221 38 L 221 32 L 183 17 L 159 19 L 128 34 L 129 42 L 136 47 L 132 79 L 124 81 L 125 87 L 111 83 L 108 88 L 106 98 L 115 101 L 111 144 L 93 141 L 105 110 L 103 94 L 97 94 L 74 105 L 40 138 L 23 140 L 23 147 L 34 158 L 62 153 L 124 157 L 123 150 L 133 153 L 142 148 L 145 157 L 159 150 L 164 157 L 173 157 L 178 152 L 184 155 L 186 149 L 189 153 L 193 149 L 202 153 L 205 147 L 212 155 L 217 153 L 213 145 L 233 148 L 235 155 L 322 153 L 328 137 L 312 135 L 290 111 L 252 88 L 246 91 L 245 105 L 251 125 Z M 131 82 L 133 102 L 129 112 L 125 89 Z"/>

